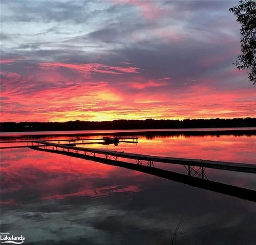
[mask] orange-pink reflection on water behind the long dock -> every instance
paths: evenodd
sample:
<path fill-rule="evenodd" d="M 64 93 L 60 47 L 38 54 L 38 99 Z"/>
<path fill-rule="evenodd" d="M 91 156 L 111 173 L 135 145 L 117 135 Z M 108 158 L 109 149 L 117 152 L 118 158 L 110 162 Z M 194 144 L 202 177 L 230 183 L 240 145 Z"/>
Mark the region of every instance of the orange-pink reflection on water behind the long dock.
<path fill-rule="evenodd" d="M 98 148 L 156 156 L 184 157 L 216 161 L 256 164 L 256 136 L 155 136 L 139 137 L 138 144 L 120 143 L 118 146 L 86 144 L 86 148 Z"/>

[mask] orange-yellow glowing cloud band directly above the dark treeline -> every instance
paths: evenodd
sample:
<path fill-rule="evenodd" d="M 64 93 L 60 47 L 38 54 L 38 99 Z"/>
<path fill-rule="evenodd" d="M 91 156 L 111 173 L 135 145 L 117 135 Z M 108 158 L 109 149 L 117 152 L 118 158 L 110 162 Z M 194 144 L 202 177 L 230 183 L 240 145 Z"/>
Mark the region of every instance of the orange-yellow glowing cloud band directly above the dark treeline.
<path fill-rule="evenodd" d="M 252 89 L 218 90 L 203 85 L 184 88 L 147 87 L 139 92 L 106 82 L 85 82 L 71 87 L 1 96 L 2 121 L 68 121 L 146 118 L 255 117 Z M 42 103 L 42 98 L 44 103 Z M 193 99 L 191 99 L 193 98 Z M 15 118 L 15 119 L 14 119 Z"/>

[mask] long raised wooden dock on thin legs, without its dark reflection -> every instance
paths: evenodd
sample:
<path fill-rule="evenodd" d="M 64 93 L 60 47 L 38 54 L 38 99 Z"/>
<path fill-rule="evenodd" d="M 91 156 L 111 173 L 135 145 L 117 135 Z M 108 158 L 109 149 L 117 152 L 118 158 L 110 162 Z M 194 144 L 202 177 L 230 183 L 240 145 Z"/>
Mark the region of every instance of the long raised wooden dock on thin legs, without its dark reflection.
<path fill-rule="evenodd" d="M 81 148 L 77 146 L 56 144 L 56 143 L 40 141 L 40 140 L 33 141 L 32 144 L 37 148 L 52 149 L 56 153 L 58 153 L 59 151 L 64 151 L 64 152 L 67 151 L 67 152 L 74 152 L 76 154 L 85 154 L 85 155 L 91 154 L 94 157 L 96 157 L 96 155 L 97 156 L 100 155 L 104 159 L 111 159 L 112 157 L 112 159 L 116 161 L 118 161 L 118 158 L 134 159 L 136 163 L 139 165 L 142 165 L 142 161 L 145 161 L 148 166 L 154 166 L 154 162 L 184 165 L 184 166 L 187 166 L 188 175 L 190 175 L 190 170 L 192 170 L 194 166 L 197 166 L 197 167 L 200 167 L 202 170 L 202 177 L 204 176 L 203 171 L 204 171 L 204 168 L 206 167 L 256 174 L 256 164 L 151 156 L 151 155 L 143 155 L 143 154 L 136 154 L 136 153 Z"/>

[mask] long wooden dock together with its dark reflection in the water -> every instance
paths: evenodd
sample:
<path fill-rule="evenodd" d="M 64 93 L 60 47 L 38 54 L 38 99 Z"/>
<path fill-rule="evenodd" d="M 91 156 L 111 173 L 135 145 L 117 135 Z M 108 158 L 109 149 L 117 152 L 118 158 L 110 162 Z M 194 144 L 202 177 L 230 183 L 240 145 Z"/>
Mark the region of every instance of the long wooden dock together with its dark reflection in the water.
<path fill-rule="evenodd" d="M 130 138 L 129 138 L 130 139 Z M 79 140 L 79 139 L 76 139 Z M 50 140 L 49 140 L 50 141 Z M 234 163 L 234 162 L 223 162 L 223 161 L 210 161 L 202 159 L 187 159 L 187 158 L 175 158 L 175 157 L 162 157 L 162 156 L 151 156 L 136 153 L 126 153 L 120 151 L 109 151 L 92 148 L 82 148 L 74 146 L 79 144 L 74 140 L 30 140 L 22 141 L 27 142 L 27 145 L 23 146 L 9 146 L 9 148 L 21 148 L 29 147 L 38 151 L 46 151 L 51 153 L 57 153 L 67 155 L 71 157 L 77 157 L 82 159 L 88 159 L 104 164 L 111 164 L 120 167 L 125 167 L 143 173 L 155 175 L 169 180 L 174 180 L 180 183 L 188 184 L 191 186 L 216 191 L 223 194 L 228 194 L 233 197 L 246 199 L 249 201 L 256 202 L 256 191 L 238 186 L 227 185 L 208 180 L 204 173 L 205 168 L 215 168 L 221 170 L 239 171 L 243 173 L 256 174 L 256 163 Z M 53 143 L 57 141 L 58 143 Z M 62 144 L 60 142 L 66 142 Z M 15 141 L 13 141 L 15 142 Z M 130 141 L 129 141 L 130 142 Z M 87 142 L 89 143 L 89 142 Z M 95 143 L 95 142 L 93 142 Z M 102 142 L 101 142 L 102 143 Z M 7 146 L 8 148 L 8 146 Z M 4 148 L 3 148 L 4 149 Z M 135 160 L 135 163 L 126 162 L 125 159 Z M 184 165 L 187 170 L 187 175 L 175 173 L 173 171 L 157 168 L 154 162 L 170 163 Z M 199 178 L 195 178 L 199 177 Z"/>

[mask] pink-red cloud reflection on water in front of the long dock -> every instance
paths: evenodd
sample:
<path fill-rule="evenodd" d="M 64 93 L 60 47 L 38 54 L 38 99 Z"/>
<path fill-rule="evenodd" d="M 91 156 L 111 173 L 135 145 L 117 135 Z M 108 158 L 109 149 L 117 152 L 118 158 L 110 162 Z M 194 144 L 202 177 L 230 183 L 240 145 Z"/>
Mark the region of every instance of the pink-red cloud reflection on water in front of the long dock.
<path fill-rule="evenodd" d="M 19 204 L 16 193 L 23 193 L 25 198 L 29 195 L 49 200 L 81 195 L 104 197 L 140 190 L 138 185 L 125 181 L 134 176 L 133 171 L 58 154 L 31 149 L 3 150 L 1 164 L 2 205 Z M 116 184 L 108 183 L 112 177 Z M 95 180 L 101 180 L 102 184 L 95 184 Z M 9 195 L 14 198 L 8 199 Z"/>

